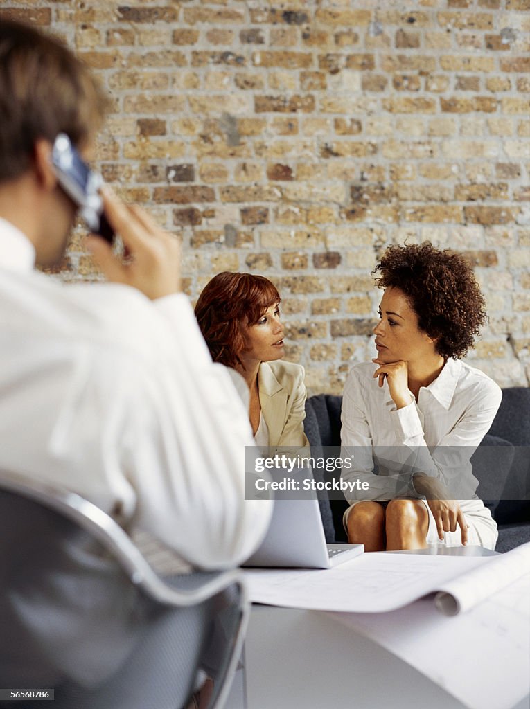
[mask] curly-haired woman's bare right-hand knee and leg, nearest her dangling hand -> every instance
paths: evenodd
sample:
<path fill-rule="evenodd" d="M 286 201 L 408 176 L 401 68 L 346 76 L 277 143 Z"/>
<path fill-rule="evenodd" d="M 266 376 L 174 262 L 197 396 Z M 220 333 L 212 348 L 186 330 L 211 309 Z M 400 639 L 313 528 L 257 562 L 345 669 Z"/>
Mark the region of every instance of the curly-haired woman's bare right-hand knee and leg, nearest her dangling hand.
<path fill-rule="evenodd" d="M 421 500 L 397 498 L 388 503 L 385 518 L 387 551 L 425 549 L 427 530 L 429 513 Z"/>

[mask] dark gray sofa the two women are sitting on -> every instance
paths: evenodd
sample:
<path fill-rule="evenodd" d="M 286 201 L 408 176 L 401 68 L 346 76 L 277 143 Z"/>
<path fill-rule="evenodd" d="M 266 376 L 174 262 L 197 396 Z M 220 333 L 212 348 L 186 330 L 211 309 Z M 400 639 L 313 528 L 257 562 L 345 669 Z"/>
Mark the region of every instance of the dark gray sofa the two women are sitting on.
<path fill-rule="evenodd" d="M 321 447 L 341 445 L 341 405 L 341 396 L 319 394 L 308 398 L 304 428 L 314 457 L 326 457 L 325 449 L 319 452 Z M 499 411 L 472 461 L 473 474 L 480 481 L 477 494 L 499 527 L 497 551 L 507 552 L 529 542 L 530 389 L 503 389 Z M 330 500 L 322 493 L 320 510 L 328 542 L 346 541 L 342 525 L 346 507 L 346 500 Z"/>

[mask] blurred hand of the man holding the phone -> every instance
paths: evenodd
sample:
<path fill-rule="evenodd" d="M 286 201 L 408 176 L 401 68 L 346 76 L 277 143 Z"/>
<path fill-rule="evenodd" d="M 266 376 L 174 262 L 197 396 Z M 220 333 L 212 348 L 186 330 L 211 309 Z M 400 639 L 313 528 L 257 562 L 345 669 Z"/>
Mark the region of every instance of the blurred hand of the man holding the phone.
<path fill-rule="evenodd" d="M 121 236 L 127 259 L 114 255 L 108 242 L 95 235 L 85 242 L 109 281 L 133 286 L 151 300 L 180 291 L 180 242 L 158 226 L 142 208 L 123 203 L 108 188 L 101 190 L 112 228 Z"/>

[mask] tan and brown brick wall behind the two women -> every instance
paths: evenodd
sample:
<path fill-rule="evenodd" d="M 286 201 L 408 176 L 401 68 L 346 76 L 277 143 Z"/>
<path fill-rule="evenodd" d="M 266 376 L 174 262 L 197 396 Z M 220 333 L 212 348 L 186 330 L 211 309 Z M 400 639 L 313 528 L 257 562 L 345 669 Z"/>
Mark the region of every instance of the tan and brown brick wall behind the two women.
<path fill-rule="evenodd" d="M 406 11 L 405 11 L 406 9 Z M 468 254 L 490 326 L 468 361 L 530 379 L 530 0 L 3 0 L 65 37 L 114 113 L 104 177 L 221 270 L 277 283 L 288 358 L 339 393 L 373 356 L 385 245 Z M 74 240 L 63 279 L 96 272 Z"/>

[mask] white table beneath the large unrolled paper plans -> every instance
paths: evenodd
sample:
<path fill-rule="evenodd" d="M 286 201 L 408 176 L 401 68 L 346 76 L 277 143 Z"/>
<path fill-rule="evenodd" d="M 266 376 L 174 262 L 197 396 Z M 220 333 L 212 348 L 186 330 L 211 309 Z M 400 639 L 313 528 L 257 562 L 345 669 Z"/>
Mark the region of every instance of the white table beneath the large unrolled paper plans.
<path fill-rule="evenodd" d="M 494 552 L 479 547 L 475 553 Z M 321 611 L 254 605 L 242 665 L 227 709 L 464 707 L 412 666 Z M 528 698 L 514 707 L 528 708 Z"/>

